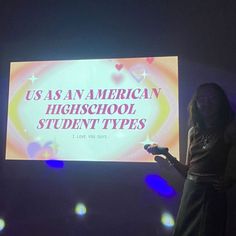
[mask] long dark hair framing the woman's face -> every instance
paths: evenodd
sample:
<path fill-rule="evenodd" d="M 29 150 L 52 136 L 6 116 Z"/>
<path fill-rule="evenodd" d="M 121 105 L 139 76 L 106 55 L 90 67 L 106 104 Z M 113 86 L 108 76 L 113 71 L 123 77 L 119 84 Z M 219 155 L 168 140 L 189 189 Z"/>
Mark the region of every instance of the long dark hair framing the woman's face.
<path fill-rule="evenodd" d="M 196 127 L 200 130 L 205 129 L 205 124 L 201 113 L 197 107 L 197 95 L 202 88 L 213 88 L 219 95 L 220 98 L 220 112 L 219 112 L 219 125 L 224 128 L 234 119 L 234 112 L 230 106 L 228 97 L 226 96 L 224 90 L 216 83 L 205 83 L 197 88 L 196 93 L 192 97 L 188 110 L 189 110 L 189 125 Z"/>

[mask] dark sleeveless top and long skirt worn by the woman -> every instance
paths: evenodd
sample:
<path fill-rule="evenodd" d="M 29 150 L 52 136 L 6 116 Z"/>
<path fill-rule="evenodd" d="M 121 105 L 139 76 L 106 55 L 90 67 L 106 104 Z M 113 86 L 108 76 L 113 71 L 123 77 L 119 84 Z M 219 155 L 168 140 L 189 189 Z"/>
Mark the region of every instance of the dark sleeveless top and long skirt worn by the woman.
<path fill-rule="evenodd" d="M 229 150 L 223 131 L 204 135 L 194 130 L 174 236 L 224 235 L 226 193 L 216 190 L 214 182 L 224 177 Z"/>

